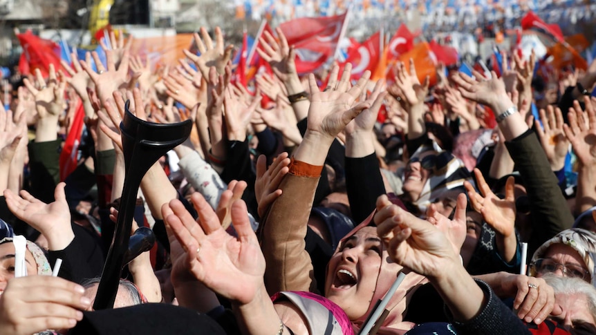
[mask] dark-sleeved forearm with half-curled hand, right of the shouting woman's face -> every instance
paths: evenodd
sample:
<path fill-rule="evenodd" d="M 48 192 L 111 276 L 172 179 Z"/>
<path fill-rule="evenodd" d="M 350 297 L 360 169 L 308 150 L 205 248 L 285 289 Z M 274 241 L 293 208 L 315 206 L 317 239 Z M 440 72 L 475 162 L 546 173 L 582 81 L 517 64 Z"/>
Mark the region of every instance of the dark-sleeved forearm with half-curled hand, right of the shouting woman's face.
<path fill-rule="evenodd" d="M 377 202 L 377 210 L 374 220 L 389 256 L 427 276 L 449 308 L 456 329 L 464 334 L 530 334 L 490 287 L 467 274 L 453 245 L 438 227 L 407 213 L 384 195 Z"/>

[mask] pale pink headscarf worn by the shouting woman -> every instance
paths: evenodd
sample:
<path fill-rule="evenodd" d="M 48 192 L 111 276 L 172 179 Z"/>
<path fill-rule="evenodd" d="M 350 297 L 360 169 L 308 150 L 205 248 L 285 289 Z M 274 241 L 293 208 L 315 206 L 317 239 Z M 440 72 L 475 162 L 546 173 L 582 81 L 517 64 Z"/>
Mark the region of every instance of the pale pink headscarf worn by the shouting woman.
<path fill-rule="evenodd" d="M 371 215 L 368 218 L 366 218 L 366 220 L 358 224 L 357 227 L 355 227 L 350 233 L 348 233 L 344 238 L 342 238 L 342 241 L 339 243 L 340 245 L 335 250 L 335 253 L 339 252 L 339 248 L 341 247 L 342 242 L 344 242 L 344 240 L 353 236 L 357 231 L 360 231 L 360 229 L 369 226 L 374 214 L 375 211 L 373 211 L 373 213 L 371 213 Z M 369 316 L 371 312 L 373 312 L 373 307 L 375 306 L 375 303 L 377 303 L 377 300 L 381 300 L 382 298 L 384 298 L 385 294 L 387 294 L 387 291 L 389 291 L 389 287 L 393 285 L 395 278 L 397 278 L 398 274 L 400 274 L 400 272 L 402 271 L 404 271 L 404 273 L 406 274 L 406 278 L 404 278 L 404 281 L 400 284 L 398 290 L 395 291 L 395 294 L 393 294 L 393 297 L 391 297 L 391 300 L 389 300 L 387 307 L 385 307 L 387 310 L 389 310 L 389 315 L 383 321 L 382 326 L 377 332 L 377 334 L 401 335 L 407 332 L 414 326 L 413 323 L 403 320 L 403 317 L 407 312 L 409 300 L 411 299 L 411 296 L 413 295 L 414 291 L 418 289 L 418 287 L 422 286 L 425 283 L 428 283 L 428 280 L 425 276 L 421 276 L 412 271 L 408 271 L 407 269 L 404 270 L 404 267 L 402 267 L 401 265 L 388 261 L 389 253 L 387 252 L 387 250 L 384 249 L 384 246 L 382 246 L 382 248 L 383 250 L 381 267 L 379 269 L 379 276 L 377 277 L 375 293 L 373 294 L 371 305 L 369 306 L 368 311 L 366 311 L 366 314 L 358 320 L 353 321 L 352 325 L 354 327 L 355 333 L 357 333 L 360 330 L 360 327 L 362 327 L 364 321 L 366 320 L 366 317 Z"/>

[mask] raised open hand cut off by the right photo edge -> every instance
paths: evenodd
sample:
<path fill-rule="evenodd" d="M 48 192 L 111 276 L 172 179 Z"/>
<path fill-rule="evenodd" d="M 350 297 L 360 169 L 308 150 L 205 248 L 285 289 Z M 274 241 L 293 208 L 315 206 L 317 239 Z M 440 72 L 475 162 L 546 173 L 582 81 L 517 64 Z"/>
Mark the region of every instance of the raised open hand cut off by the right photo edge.
<path fill-rule="evenodd" d="M 564 124 L 563 130 L 571 142 L 577 159 L 584 166 L 596 164 L 596 99 L 584 97 L 586 111 L 581 111 L 577 100 L 573 108 L 569 108 L 569 125 Z"/>

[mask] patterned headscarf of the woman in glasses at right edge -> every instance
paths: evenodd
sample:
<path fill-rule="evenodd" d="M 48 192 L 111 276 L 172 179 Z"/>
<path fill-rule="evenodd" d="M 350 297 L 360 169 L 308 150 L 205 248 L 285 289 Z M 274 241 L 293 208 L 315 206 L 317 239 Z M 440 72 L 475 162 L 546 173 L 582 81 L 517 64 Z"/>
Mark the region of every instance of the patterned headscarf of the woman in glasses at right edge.
<path fill-rule="evenodd" d="M 579 253 L 581 259 L 584 260 L 584 264 L 590 272 L 592 278 L 592 285 L 596 287 L 596 278 L 594 276 L 596 266 L 596 234 L 586 229 L 571 228 L 561 231 L 554 238 L 544 242 L 532 256 L 532 262 L 542 258 L 548 248 L 556 243 L 561 243 L 572 247 Z M 532 276 L 536 274 L 532 273 Z"/>

